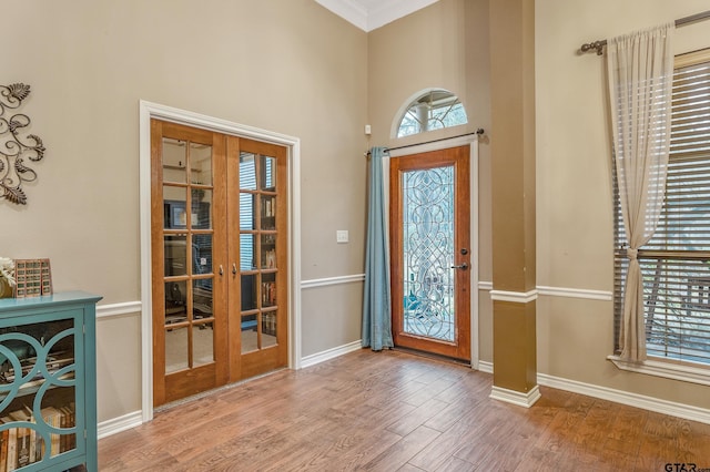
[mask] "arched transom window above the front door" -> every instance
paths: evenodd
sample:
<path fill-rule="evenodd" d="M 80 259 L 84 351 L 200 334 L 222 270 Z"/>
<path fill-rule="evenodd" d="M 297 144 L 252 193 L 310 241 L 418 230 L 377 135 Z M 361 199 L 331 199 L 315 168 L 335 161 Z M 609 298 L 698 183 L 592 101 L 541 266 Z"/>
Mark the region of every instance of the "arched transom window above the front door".
<path fill-rule="evenodd" d="M 447 90 L 430 90 L 409 103 L 399 121 L 397 137 L 466 123 L 466 110 L 458 96 Z"/>

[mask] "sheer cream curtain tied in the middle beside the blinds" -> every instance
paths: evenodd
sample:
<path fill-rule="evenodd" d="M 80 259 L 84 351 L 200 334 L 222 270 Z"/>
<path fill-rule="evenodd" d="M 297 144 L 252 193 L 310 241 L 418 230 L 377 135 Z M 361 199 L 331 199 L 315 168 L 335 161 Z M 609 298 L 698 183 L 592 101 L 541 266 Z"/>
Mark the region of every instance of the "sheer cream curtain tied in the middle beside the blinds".
<path fill-rule="evenodd" d="M 656 232 L 666 193 L 673 29 L 672 23 L 663 24 L 607 43 L 613 152 L 629 258 L 619 345 L 621 358 L 632 361 L 646 359 L 637 253 Z"/>

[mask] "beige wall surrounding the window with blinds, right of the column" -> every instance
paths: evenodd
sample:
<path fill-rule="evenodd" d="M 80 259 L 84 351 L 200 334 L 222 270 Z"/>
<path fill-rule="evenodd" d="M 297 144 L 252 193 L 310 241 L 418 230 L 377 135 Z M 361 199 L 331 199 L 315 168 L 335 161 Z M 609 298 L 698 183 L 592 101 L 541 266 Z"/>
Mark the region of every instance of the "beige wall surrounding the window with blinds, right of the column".
<path fill-rule="evenodd" d="M 604 58 L 582 43 L 708 10 L 707 0 L 536 1 L 537 284 L 613 290 L 610 133 Z M 676 30 L 676 52 L 710 47 L 708 22 Z M 541 296 L 538 371 L 710 408 L 707 387 L 618 370 L 612 302 Z"/>

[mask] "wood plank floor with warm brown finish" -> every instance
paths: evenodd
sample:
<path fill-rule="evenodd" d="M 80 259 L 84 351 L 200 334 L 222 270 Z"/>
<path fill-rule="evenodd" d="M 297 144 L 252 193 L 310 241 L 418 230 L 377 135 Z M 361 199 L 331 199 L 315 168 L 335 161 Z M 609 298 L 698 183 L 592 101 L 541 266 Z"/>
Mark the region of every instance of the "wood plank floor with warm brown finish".
<path fill-rule="evenodd" d="M 491 379 L 397 351 L 352 352 L 159 412 L 150 423 L 99 441 L 99 466 L 116 472 L 710 468 L 708 424 L 549 388 L 525 409 L 489 399 Z"/>

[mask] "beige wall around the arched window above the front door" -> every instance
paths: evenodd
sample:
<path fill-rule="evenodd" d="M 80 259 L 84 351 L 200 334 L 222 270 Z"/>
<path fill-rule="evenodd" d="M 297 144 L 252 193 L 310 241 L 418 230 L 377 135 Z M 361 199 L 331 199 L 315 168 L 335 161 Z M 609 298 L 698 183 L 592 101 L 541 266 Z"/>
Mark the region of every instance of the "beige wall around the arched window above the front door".
<path fill-rule="evenodd" d="M 490 132 L 488 1 L 439 0 L 368 35 L 371 145 L 399 146 L 470 133 Z M 459 96 L 468 124 L 406 138 L 392 138 L 402 107 L 419 91 L 446 89 Z M 491 280 L 490 147 L 479 146 L 479 279 Z M 490 298 L 480 291 L 479 358 L 493 360 Z"/>

